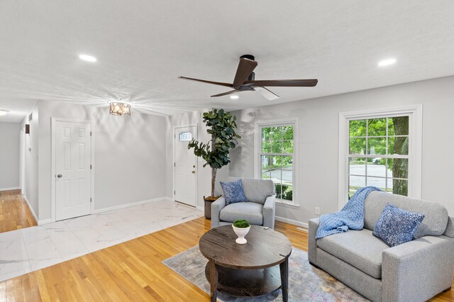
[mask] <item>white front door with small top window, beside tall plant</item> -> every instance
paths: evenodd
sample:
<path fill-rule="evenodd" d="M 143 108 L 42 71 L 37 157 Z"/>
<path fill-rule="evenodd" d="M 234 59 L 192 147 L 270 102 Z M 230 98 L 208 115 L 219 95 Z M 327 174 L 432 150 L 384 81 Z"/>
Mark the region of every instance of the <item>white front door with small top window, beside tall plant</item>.
<path fill-rule="evenodd" d="M 175 128 L 175 201 L 196 206 L 196 164 L 194 150 L 187 145 L 196 138 L 196 127 Z"/>

